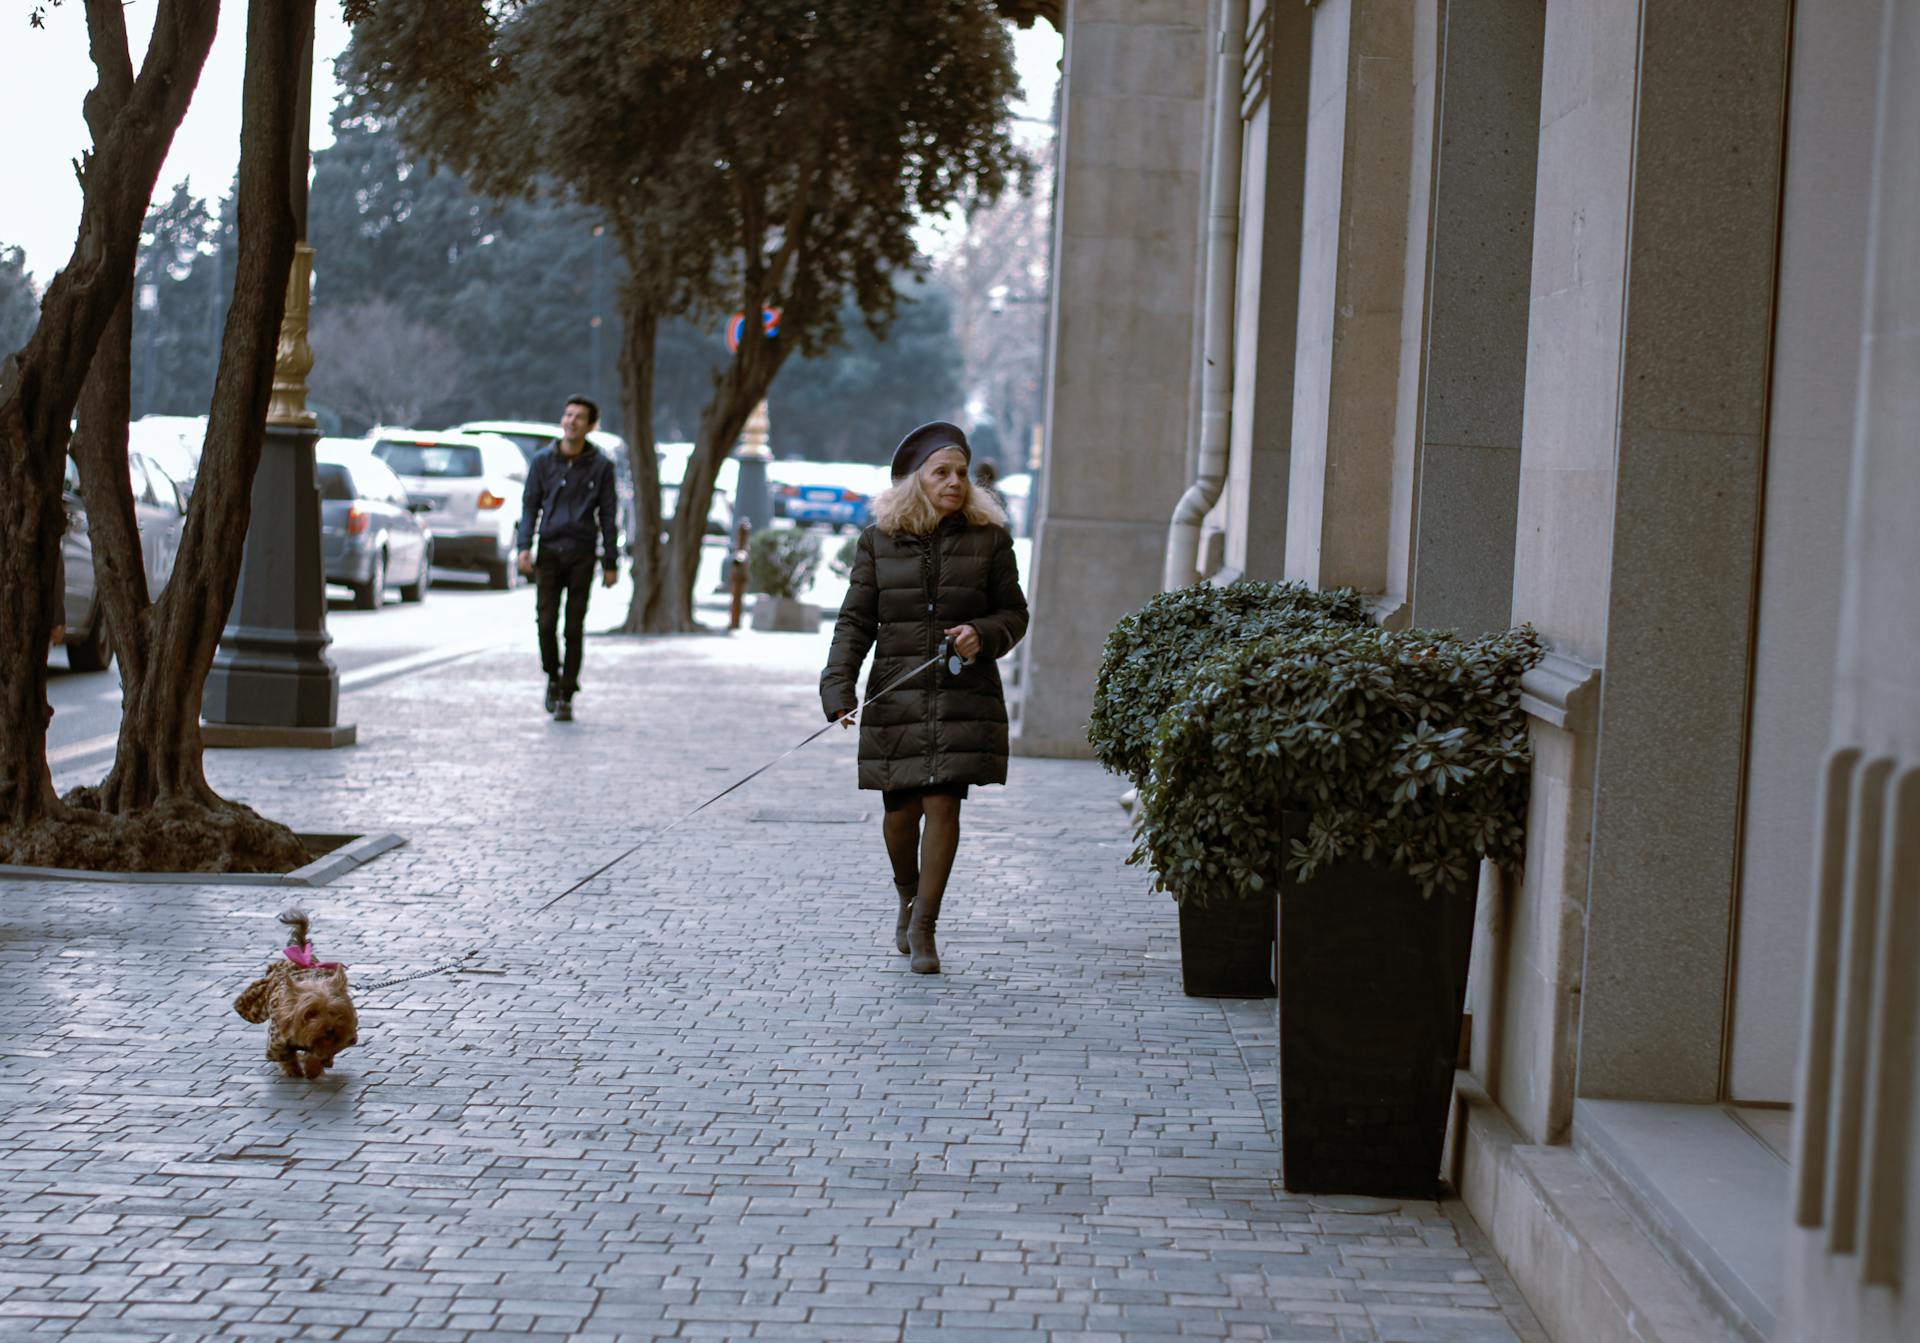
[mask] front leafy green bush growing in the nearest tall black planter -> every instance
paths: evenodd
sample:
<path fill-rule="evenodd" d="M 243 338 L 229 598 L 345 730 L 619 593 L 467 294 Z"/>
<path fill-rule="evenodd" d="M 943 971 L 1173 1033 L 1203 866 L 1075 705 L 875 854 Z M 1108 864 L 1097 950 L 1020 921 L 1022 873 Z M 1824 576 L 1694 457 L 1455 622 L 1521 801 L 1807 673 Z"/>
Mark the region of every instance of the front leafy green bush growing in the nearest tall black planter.
<path fill-rule="evenodd" d="M 1129 861 L 1206 903 L 1359 857 L 1425 893 L 1526 845 L 1532 628 L 1467 640 L 1323 621 L 1229 647 L 1162 717 Z M 1281 813 L 1309 815 L 1283 853 Z"/>

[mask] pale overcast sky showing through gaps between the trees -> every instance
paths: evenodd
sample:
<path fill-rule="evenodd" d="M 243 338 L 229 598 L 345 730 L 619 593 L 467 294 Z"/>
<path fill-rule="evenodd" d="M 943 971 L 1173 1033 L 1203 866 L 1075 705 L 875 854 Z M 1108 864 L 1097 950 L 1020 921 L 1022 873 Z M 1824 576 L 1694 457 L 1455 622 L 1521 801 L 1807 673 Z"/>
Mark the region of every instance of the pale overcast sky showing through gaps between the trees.
<path fill-rule="evenodd" d="M 156 0 L 127 2 L 127 29 L 134 52 L 146 50 Z M 321 0 L 315 31 L 313 148 L 332 142 L 328 117 L 334 106 L 334 60 L 348 44 L 338 0 Z M 173 194 L 188 179 L 196 196 L 227 194 L 240 163 L 240 75 L 246 50 L 246 6 L 227 0 L 200 86 L 159 173 L 156 196 Z M 1014 29 L 1020 81 L 1027 100 L 1018 115 L 1052 111 L 1060 35 L 1044 23 Z M 138 58 L 134 60 L 138 65 Z M 81 188 L 73 159 L 90 144 L 81 98 L 94 85 L 86 60 L 86 17 L 69 0 L 48 10 L 46 29 L 27 27 L 27 6 L 0 0 L 0 246 L 27 250 L 27 269 L 44 284 L 73 252 L 81 221 Z M 1037 127 L 1025 127 L 1037 131 Z M 1029 138 L 1021 133 L 1021 138 Z"/>

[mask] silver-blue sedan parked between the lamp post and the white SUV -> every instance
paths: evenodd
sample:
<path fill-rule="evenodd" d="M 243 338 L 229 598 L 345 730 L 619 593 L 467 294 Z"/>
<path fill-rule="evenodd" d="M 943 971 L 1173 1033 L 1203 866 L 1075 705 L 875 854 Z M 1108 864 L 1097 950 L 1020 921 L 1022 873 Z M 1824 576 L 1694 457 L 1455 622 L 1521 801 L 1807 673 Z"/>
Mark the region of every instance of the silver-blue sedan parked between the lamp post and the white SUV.
<path fill-rule="evenodd" d="M 422 601 L 434 582 L 434 536 L 394 471 L 361 438 L 323 438 L 313 448 L 321 486 L 321 563 L 326 582 L 353 588 L 353 605 L 376 611 L 386 586 Z"/>

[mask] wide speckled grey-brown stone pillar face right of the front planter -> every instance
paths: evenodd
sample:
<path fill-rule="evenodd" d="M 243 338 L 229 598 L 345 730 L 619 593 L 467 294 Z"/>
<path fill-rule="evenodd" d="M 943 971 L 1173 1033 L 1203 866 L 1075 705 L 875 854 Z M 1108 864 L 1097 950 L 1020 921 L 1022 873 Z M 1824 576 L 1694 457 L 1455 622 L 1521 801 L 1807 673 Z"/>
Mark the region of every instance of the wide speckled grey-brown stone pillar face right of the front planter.
<path fill-rule="evenodd" d="M 1786 0 L 1645 0 L 1580 1095 L 1720 1095 Z"/>

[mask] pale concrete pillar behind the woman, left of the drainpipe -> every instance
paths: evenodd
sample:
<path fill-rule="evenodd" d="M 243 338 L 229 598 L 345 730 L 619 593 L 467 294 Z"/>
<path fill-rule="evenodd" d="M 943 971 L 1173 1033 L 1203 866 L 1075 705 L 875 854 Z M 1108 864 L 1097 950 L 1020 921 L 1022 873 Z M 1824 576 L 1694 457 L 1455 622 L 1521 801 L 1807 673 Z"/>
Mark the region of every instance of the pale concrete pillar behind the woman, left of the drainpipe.
<path fill-rule="evenodd" d="M 1206 0 L 1068 12 L 1048 455 L 1016 751 L 1087 753 L 1106 632 L 1160 588 L 1187 478 Z"/>

